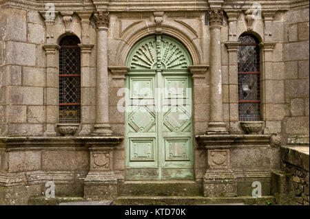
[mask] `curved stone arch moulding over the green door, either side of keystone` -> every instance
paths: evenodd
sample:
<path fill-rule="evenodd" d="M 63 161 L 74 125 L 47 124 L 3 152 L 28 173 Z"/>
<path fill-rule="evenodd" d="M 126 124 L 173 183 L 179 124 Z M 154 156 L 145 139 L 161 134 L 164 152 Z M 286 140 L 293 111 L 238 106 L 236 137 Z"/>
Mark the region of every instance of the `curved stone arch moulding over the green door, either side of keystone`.
<path fill-rule="evenodd" d="M 136 28 L 140 26 L 139 28 Z M 135 25 L 132 28 L 131 32 L 127 32 L 124 34 L 122 43 L 118 46 L 118 50 L 116 53 L 116 57 L 118 58 L 118 65 L 126 65 L 127 56 L 130 53 L 132 47 L 140 41 L 142 38 L 145 38 L 149 35 L 156 34 L 156 25 L 145 25 L 145 23 L 138 23 L 137 26 Z M 180 41 L 187 51 L 189 52 L 190 56 L 192 57 L 192 65 L 200 65 L 201 57 L 200 52 L 196 45 L 193 43 L 192 38 L 190 38 L 184 32 L 178 30 L 176 27 L 172 27 L 170 25 L 162 25 L 163 35 L 172 36 L 176 38 L 176 40 Z"/>

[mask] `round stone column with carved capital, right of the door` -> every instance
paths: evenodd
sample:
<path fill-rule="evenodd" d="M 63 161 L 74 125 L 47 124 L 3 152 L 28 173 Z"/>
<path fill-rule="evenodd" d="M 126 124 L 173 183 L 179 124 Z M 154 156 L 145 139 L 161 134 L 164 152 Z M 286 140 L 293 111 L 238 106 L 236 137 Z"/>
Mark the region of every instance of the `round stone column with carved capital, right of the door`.
<path fill-rule="evenodd" d="M 210 118 L 208 135 L 228 134 L 223 122 L 222 64 L 220 54 L 220 22 L 223 10 L 209 10 L 210 24 Z"/>

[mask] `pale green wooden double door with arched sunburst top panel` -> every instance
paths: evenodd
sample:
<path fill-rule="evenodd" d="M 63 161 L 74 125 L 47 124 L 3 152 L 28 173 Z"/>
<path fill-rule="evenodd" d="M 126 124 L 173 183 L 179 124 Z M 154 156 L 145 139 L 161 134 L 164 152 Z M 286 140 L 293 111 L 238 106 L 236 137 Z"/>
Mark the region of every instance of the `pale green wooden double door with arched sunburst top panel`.
<path fill-rule="evenodd" d="M 127 58 L 125 178 L 193 179 L 192 60 L 169 36 L 148 36 Z"/>

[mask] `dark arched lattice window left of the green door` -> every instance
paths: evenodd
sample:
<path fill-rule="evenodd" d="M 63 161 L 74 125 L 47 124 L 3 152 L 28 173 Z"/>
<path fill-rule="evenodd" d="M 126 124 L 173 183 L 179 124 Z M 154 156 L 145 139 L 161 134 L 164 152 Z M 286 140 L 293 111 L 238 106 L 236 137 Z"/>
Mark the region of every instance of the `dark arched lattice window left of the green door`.
<path fill-rule="evenodd" d="M 65 36 L 59 45 L 59 123 L 81 122 L 81 49 L 76 36 Z"/>

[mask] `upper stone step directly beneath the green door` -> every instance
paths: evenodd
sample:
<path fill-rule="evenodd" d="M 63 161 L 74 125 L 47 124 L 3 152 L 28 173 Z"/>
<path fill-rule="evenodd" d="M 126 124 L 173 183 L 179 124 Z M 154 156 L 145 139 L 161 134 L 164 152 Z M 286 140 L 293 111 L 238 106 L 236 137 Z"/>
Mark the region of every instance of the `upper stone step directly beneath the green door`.
<path fill-rule="evenodd" d="M 201 196 L 203 186 L 195 181 L 125 181 L 120 196 Z"/>

